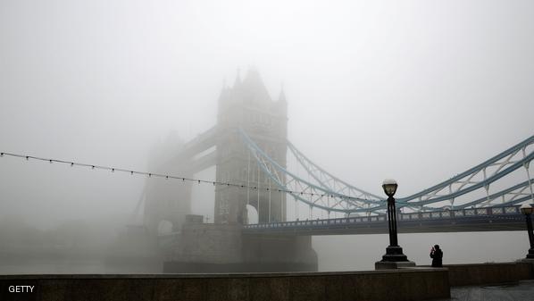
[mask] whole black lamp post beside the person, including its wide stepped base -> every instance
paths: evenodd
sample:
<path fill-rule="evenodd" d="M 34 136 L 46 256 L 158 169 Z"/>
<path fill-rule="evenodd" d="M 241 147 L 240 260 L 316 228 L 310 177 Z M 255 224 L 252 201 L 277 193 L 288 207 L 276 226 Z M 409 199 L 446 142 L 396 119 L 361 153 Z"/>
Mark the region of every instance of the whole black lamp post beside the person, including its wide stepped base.
<path fill-rule="evenodd" d="M 388 230 L 389 230 L 389 246 L 386 248 L 386 255 L 382 256 L 380 262 L 375 263 L 376 270 L 382 269 L 396 269 L 399 266 L 415 266 L 415 263 L 408 260 L 403 254 L 403 248 L 398 246 L 396 238 L 396 208 L 395 196 L 396 180 L 384 180 L 382 188 L 388 196 Z"/>

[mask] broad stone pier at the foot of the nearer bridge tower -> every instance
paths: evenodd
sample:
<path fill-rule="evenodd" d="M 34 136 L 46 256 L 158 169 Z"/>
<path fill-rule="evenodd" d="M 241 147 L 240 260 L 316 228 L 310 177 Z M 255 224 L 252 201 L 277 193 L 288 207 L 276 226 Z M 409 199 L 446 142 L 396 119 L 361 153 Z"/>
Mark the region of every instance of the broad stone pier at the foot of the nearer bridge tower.
<path fill-rule="evenodd" d="M 311 236 L 244 235 L 240 224 L 186 222 L 163 272 L 317 272 Z"/>

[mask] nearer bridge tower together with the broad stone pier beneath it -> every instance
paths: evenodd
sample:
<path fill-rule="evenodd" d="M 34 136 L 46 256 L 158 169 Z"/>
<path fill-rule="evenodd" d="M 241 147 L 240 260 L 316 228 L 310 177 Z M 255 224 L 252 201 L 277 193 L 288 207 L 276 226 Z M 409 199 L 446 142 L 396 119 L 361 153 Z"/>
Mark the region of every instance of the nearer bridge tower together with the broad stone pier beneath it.
<path fill-rule="evenodd" d="M 273 101 L 255 70 L 248 71 L 243 80 L 238 74 L 233 87 L 222 88 L 217 124 L 182 147 L 179 160 L 174 160 L 176 166 L 186 163 L 184 166 L 190 166 L 188 171 L 192 173 L 214 164 L 217 181 L 248 188 L 216 185 L 214 223 L 185 219 L 177 243 L 163 263 L 163 271 L 317 271 L 311 237 L 243 233 L 241 224 L 248 223 L 247 205 L 255 208 L 259 222 L 286 221 L 286 194 L 280 193 L 260 169 L 239 130 L 244 130 L 267 155 L 286 168 L 286 97 L 282 91 L 279 99 Z M 277 180 L 285 183 L 285 176 L 279 177 Z M 188 194 L 186 191 L 184 196 Z"/>

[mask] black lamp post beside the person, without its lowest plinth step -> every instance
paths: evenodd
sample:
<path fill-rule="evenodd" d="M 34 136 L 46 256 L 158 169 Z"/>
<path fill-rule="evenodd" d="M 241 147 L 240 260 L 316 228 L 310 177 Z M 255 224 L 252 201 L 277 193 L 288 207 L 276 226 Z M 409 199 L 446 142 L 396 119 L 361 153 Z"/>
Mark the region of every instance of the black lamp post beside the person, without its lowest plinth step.
<path fill-rule="evenodd" d="M 398 246 L 396 239 L 396 209 L 393 196 L 397 186 L 396 180 L 388 179 L 382 183 L 382 188 L 388 196 L 389 246 L 386 248 L 386 255 L 382 256 L 381 262 L 408 262 L 408 258 L 403 254 L 403 248 Z"/>

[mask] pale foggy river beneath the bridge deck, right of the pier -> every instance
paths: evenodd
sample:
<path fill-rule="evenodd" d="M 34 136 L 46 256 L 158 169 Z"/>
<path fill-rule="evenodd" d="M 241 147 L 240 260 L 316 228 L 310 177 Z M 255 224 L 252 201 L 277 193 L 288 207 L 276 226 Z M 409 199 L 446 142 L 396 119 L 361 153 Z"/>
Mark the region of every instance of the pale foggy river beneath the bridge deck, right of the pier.
<path fill-rule="evenodd" d="M 324 236 L 313 238 L 321 271 L 373 270 L 388 247 L 388 235 Z M 399 234 L 408 259 L 430 264 L 430 247 L 439 245 L 443 263 L 510 262 L 529 250 L 525 231 Z"/>

